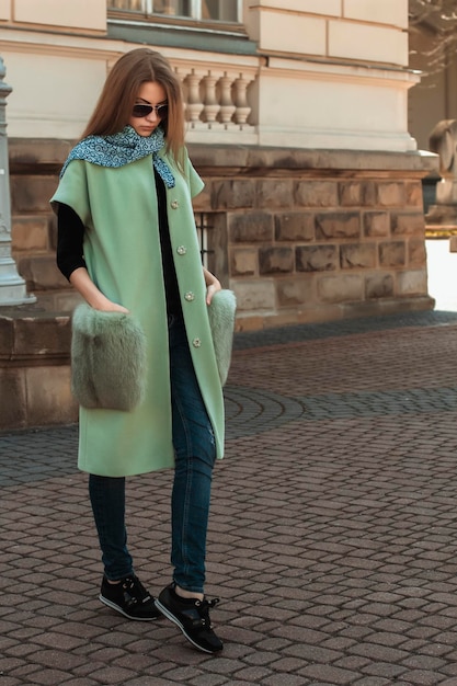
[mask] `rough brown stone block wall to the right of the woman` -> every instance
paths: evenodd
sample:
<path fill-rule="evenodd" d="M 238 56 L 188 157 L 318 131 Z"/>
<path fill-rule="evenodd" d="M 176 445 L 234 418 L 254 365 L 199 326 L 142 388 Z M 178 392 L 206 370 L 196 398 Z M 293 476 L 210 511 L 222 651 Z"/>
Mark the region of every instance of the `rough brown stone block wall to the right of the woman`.
<path fill-rule="evenodd" d="M 433 307 L 421 178 L 435 159 L 210 147 L 191 157 L 207 184 L 197 206 L 226 218 L 238 329 Z"/>

